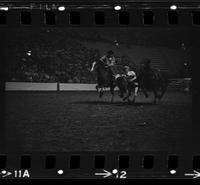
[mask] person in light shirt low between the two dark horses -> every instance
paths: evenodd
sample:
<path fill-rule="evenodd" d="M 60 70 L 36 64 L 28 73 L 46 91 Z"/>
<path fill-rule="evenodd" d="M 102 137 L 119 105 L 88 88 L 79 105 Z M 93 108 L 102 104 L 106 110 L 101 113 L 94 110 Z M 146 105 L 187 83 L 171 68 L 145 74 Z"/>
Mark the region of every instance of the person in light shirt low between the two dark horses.
<path fill-rule="evenodd" d="M 124 71 L 125 71 L 125 78 L 128 82 L 128 87 L 135 89 L 135 96 L 138 94 L 138 89 L 139 89 L 139 84 L 137 82 L 137 76 L 136 73 L 133 70 L 130 70 L 129 66 L 124 66 Z"/>

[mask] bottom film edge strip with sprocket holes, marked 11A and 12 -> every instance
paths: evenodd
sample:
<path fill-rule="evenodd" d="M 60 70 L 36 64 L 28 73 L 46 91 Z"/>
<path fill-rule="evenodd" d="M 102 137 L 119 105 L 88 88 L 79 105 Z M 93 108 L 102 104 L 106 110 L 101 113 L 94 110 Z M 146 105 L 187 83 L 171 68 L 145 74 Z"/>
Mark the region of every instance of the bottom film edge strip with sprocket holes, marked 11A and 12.
<path fill-rule="evenodd" d="M 181 152 L 13 153 L 0 155 L 0 161 L 3 161 L 3 156 L 5 168 L 1 168 L 1 171 L 6 170 L 13 175 L 15 171 L 21 171 L 21 176 L 14 177 L 18 179 L 24 179 L 23 172 L 26 170 L 29 171 L 30 178 L 55 179 L 102 179 L 104 175 L 95 174 L 104 170 L 118 172 L 112 173 L 108 179 L 188 179 L 186 174 L 199 171 L 199 166 L 196 168 L 193 165 L 194 160 L 199 160 L 199 156 L 194 158 L 193 154 Z M 102 160 L 98 159 L 100 167 L 97 161 L 99 157 L 104 158 L 103 166 Z M 125 172 L 124 176 L 122 172 Z M 195 177 L 195 174 L 190 175 L 191 177 Z"/>

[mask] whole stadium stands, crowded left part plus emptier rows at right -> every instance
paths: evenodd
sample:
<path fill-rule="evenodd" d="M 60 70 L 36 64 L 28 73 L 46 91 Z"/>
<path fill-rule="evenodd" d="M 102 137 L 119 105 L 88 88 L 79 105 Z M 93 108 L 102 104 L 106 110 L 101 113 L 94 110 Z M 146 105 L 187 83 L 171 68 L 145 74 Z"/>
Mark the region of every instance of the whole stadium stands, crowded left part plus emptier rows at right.
<path fill-rule="evenodd" d="M 143 58 L 149 58 L 153 67 L 170 77 L 182 77 L 183 62 L 190 58 L 180 48 L 161 46 L 155 38 L 149 44 L 150 33 L 144 35 L 140 31 L 134 35 L 134 44 L 120 42 L 116 47 L 111 33 L 47 28 L 33 33 L 18 30 L 8 43 L 12 55 L 8 53 L 7 81 L 95 83 L 91 64 L 108 50 L 114 51 L 119 64 L 139 66 Z M 114 36 L 127 40 L 122 34 Z"/>

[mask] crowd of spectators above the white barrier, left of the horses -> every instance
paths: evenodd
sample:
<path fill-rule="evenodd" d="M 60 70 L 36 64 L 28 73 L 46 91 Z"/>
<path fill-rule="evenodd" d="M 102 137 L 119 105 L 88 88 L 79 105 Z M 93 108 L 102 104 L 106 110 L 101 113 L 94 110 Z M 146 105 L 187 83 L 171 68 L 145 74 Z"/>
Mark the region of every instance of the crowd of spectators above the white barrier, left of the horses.
<path fill-rule="evenodd" d="M 94 83 L 95 75 L 90 68 L 92 62 L 100 57 L 99 51 L 87 49 L 75 39 L 68 38 L 65 42 L 64 46 L 57 42 L 49 47 L 48 42 L 37 40 L 14 48 L 15 54 L 10 56 L 11 62 L 7 65 L 7 80 Z"/>

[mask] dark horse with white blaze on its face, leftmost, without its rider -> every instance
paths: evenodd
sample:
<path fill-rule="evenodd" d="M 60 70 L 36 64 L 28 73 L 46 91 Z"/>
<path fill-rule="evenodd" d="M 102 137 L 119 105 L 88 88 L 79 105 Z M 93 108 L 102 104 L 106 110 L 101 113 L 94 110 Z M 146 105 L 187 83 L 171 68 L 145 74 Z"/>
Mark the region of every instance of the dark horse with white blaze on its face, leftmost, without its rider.
<path fill-rule="evenodd" d="M 98 60 L 93 62 L 91 72 L 96 71 L 97 73 L 97 86 L 96 89 L 100 88 L 99 97 L 103 96 L 103 89 L 106 87 L 110 88 L 110 92 L 112 95 L 111 102 L 114 100 L 114 88 L 116 87 L 115 84 L 115 77 L 111 70 L 111 66 L 106 66 L 102 61 Z"/>

